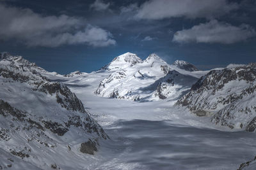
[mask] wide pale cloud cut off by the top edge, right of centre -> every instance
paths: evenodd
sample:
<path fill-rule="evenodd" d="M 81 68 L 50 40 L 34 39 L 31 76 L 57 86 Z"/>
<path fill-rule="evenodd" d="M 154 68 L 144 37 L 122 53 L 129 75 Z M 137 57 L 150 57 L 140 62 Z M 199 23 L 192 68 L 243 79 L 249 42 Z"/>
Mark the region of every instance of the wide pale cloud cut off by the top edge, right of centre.
<path fill-rule="evenodd" d="M 237 8 L 236 3 L 227 0 L 150 0 L 140 6 L 136 18 L 214 18 Z"/>

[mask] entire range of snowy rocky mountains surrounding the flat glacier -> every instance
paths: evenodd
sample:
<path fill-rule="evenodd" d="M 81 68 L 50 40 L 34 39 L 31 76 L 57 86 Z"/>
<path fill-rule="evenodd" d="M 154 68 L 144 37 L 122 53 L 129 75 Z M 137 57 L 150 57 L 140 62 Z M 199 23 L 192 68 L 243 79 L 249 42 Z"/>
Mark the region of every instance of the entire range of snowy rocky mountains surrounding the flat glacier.
<path fill-rule="evenodd" d="M 200 71 L 182 60 L 168 64 L 155 53 L 142 60 L 128 52 L 98 71 L 61 75 L 3 52 L 0 169 L 57 169 L 60 162 L 67 169 L 83 169 L 81 164 L 88 154 L 94 154 L 102 141 L 109 140 L 70 90 L 72 86 L 90 86 L 84 82 L 97 83 L 92 90 L 95 96 L 138 102 L 172 101 L 177 109 L 188 110 L 195 117 L 211 117 L 216 126 L 256 130 L 255 63 Z M 60 155 L 77 160 L 73 159 L 70 167 Z"/>

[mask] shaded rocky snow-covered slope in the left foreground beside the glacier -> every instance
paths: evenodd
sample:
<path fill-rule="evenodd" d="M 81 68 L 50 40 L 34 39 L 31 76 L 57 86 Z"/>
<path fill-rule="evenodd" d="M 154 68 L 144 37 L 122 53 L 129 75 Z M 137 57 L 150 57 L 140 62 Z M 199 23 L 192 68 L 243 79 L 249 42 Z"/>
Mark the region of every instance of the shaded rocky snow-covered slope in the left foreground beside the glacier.
<path fill-rule="evenodd" d="M 85 153 L 108 135 L 76 94 L 40 72 L 47 73 L 0 54 L 0 169 L 83 169 Z"/>

